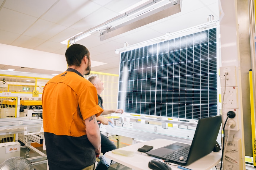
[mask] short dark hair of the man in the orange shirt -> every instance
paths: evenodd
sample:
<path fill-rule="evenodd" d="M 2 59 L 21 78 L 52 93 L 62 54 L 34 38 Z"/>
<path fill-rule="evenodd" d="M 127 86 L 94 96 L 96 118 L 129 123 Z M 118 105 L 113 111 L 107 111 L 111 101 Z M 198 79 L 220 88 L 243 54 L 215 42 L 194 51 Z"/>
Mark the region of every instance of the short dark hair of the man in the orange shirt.
<path fill-rule="evenodd" d="M 87 56 L 88 61 L 90 60 L 90 52 L 89 50 L 80 44 L 73 44 L 69 46 L 65 53 L 66 61 L 68 66 L 81 66 L 81 61 L 84 56 Z"/>

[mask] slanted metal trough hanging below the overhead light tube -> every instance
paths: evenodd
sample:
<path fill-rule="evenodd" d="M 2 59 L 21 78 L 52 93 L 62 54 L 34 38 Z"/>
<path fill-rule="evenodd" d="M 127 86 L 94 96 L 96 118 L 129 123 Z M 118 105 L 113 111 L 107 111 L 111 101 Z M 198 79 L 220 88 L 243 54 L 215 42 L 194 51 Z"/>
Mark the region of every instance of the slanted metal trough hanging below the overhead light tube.
<path fill-rule="evenodd" d="M 181 12 L 181 4 L 182 0 L 177 0 L 173 3 L 169 3 L 163 5 L 162 7 L 158 7 L 157 9 L 149 10 L 148 12 L 145 12 L 143 14 L 139 14 L 133 19 L 121 23 L 120 25 L 112 25 L 110 29 L 105 30 L 103 33 L 99 35 L 100 41 L 104 41 L 108 38 L 112 38 L 116 35 L 126 33 L 130 30 L 142 27 L 151 22 L 155 22 L 165 17 L 169 17 L 173 14 L 177 14 L 178 12 Z"/>

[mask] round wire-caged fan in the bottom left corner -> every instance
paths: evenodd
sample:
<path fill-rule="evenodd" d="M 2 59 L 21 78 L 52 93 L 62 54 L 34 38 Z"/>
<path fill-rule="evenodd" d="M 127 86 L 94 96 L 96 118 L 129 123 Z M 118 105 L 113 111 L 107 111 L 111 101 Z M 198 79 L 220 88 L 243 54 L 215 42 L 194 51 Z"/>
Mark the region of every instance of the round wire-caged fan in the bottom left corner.
<path fill-rule="evenodd" d="M 12 157 L 0 164 L 0 170 L 34 170 L 34 168 L 28 159 Z"/>

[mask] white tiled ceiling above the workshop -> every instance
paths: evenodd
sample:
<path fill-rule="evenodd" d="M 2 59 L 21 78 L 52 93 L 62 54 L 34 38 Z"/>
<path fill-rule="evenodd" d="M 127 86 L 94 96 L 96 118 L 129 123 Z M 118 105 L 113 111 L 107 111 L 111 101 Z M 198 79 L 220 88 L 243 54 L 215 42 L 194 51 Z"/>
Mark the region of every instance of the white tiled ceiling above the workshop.
<path fill-rule="evenodd" d="M 0 0 L 0 43 L 64 55 L 60 42 L 89 30 L 140 0 Z M 152 0 L 151 0 L 152 1 Z M 208 15 L 219 20 L 218 0 L 183 0 L 181 12 L 135 30 L 100 41 L 99 33 L 77 41 L 86 46 L 94 61 L 107 64 L 92 71 L 118 74 L 115 50 L 207 22 Z M 2 58 L 3 56 L 0 56 Z M 35 56 L 36 57 L 36 56 Z M 49 61 L 50 62 L 50 61 Z M 15 71 L 52 74 L 50 70 L 12 67 Z M 0 64 L 0 69 L 11 66 Z"/>

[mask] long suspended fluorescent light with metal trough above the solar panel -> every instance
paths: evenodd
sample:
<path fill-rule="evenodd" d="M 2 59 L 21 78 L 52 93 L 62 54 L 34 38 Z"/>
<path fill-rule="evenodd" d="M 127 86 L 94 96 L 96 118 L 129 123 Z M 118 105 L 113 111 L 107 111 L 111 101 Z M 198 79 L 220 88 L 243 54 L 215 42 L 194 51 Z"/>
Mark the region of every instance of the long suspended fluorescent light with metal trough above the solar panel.
<path fill-rule="evenodd" d="M 127 27 L 129 27 L 129 29 L 131 30 L 131 29 L 135 29 L 137 27 L 146 25 L 148 23 L 154 22 L 155 20 L 159 20 L 164 17 L 170 16 L 172 14 L 178 13 L 181 11 L 181 3 L 179 5 L 177 5 L 178 7 L 175 7 L 173 10 L 165 10 L 170 7 L 173 7 L 175 4 L 177 4 L 177 1 L 180 2 L 182 0 L 175 0 L 175 1 L 174 0 L 141 0 L 140 2 L 136 3 L 135 5 L 132 5 L 131 7 L 120 12 L 120 13 L 122 13 L 122 12 L 125 12 L 125 13 L 122 13 L 110 20 L 107 20 L 96 27 L 90 28 L 87 31 L 84 31 L 80 34 L 72 36 L 71 38 L 69 38 L 69 44 L 72 45 L 76 41 L 79 41 L 79 40 L 91 35 L 91 33 L 95 32 L 95 31 L 98 31 L 100 33 L 100 41 L 103 41 L 105 39 L 115 36 L 114 34 L 119 35 L 121 33 L 129 31 L 127 28 L 124 28 L 124 30 L 122 30 L 122 31 L 117 30 L 120 27 L 125 27 L 125 26 L 129 25 Z M 162 12 L 162 11 L 164 11 L 164 12 Z M 169 11 L 171 11 L 171 12 L 169 12 Z M 146 14 L 146 16 L 145 16 L 145 14 Z M 151 18 L 149 18 L 150 15 L 152 15 Z M 144 17 L 141 17 L 141 16 L 144 16 Z M 162 16 L 162 18 L 159 16 Z M 132 19 L 137 18 L 137 17 L 139 17 L 137 20 L 132 21 Z M 146 17 L 148 18 L 147 22 L 139 21 L 139 20 L 143 20 Z M 128 24 L 127 22 L 131 22 L 131 23 Z M 140 24 L 138 24 L 137 22 L 139 22 Z M 135 27 L 132 24 L 137 25 L 137 27 Z M 109 34 L 110 36 L 106 35 L 107 33 L 111 32 L 113 30 L 115 30 L 115 32 L 117 32 L 117 33 L 114 33 L 113 35 Z M 64 44 L 67 44 L 67 41 L 68 40 L 65 40 Z"/>

